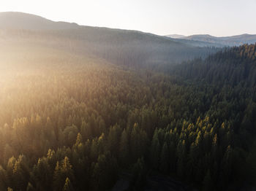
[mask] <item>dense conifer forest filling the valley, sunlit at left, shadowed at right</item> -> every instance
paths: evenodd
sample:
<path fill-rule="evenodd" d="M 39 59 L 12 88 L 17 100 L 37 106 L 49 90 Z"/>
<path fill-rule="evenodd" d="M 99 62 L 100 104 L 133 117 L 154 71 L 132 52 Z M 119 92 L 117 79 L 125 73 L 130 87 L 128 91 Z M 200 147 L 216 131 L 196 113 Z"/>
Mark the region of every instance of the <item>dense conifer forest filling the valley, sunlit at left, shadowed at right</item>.
<path fill-rule="evenodd" d="M 255 47 L 157 70 L 80 57 L 5 66 L 0 190 L 111 190 L 124 173 L 127 190 L 154 174 L 254 186 Z"/>

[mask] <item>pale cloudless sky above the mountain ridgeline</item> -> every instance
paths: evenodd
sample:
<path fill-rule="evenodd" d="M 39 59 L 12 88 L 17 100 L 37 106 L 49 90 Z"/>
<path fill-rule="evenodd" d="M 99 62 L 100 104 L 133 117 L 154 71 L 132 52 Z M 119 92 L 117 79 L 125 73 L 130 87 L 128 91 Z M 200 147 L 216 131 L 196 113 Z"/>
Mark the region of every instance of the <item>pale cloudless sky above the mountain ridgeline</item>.
<path fill-rule="evenodd" d="M 0 12 L 159 35 L 256 34 L 255 10 L 256 0 L 0 0 Z"/>

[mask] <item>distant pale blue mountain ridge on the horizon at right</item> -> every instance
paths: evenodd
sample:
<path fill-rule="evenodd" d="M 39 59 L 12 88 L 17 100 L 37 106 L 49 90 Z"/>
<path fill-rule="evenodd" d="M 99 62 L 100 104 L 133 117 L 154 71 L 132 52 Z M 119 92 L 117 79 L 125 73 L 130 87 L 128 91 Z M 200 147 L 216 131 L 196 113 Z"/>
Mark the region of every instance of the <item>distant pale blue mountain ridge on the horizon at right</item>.
<path fill-rule="evenodd" d="M 173 38 L 172 35 L 167 36 Z M 176 38 L 177 42 L 182 42 L 182 40 L 189 40 L 190 42 L 187 42 L 189 44 L 195 44 L 196 41 L 197 43 L 204 42 L 206 43 L 206 45 L 215 47 L 233 47 L 240 46 L 241 44 L 255 44 L 256 34 L 241 34 L 235 36 L 222 37 L 211 36 L 209 34 L 195 34 L 191 36 L 180 36 Z"/>

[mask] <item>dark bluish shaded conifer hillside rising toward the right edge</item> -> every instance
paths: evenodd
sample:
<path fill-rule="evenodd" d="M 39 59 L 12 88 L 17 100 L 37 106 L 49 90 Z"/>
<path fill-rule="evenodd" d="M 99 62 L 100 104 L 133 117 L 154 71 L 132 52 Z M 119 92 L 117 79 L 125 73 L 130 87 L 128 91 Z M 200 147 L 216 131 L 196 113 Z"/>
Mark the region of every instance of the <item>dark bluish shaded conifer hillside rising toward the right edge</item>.
<path fill-rule="evenodd" d="M 255 87 L 256 44 L 244 44 L 210 55 L 206 60 L 170 67 L 170 74 L 211 85 Z"/>

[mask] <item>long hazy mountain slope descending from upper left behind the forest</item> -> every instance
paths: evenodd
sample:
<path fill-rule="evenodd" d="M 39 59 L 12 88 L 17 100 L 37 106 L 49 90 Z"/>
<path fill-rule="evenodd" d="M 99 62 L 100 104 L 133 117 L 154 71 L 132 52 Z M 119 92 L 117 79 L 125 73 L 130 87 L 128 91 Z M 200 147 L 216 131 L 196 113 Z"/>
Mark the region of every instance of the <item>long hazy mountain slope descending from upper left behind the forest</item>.
<path fill-rule="evenodd" d="M 123 66 L 156 66 L 205 57 L 216 50 L 194 47 L 165 36 L 111 28 L 53 22 L 19 12 L 0 14 L 5 43 L 61 49 L 78 55 L 94 55 Z"/>

